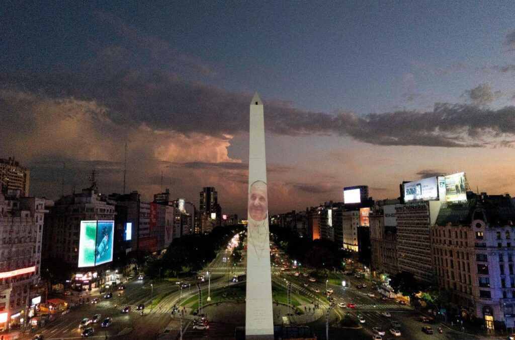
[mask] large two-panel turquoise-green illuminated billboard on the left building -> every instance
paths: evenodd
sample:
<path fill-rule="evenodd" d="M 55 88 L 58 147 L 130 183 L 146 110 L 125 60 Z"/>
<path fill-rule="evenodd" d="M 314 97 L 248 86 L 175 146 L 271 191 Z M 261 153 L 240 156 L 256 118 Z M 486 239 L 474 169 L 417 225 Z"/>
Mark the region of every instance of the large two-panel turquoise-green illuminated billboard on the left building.
<path fill-rule="evenodd" d="M 113 261 L 114 221 L 80 221 L 78 267 Z"/>

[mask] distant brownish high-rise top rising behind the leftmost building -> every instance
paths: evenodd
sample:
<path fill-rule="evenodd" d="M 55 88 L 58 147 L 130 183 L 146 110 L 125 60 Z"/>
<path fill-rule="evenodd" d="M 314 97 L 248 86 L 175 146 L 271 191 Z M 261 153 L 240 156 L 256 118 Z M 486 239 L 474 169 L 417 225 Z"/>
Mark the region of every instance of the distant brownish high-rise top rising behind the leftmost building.
<path fill-rule="evenodd" d="M 8 194 L 9 190 L 20 190 L 20 196 L 29 195 L 30 171 L 20 166 L 14 157 L 0 159 L 0 192 Z"/>

